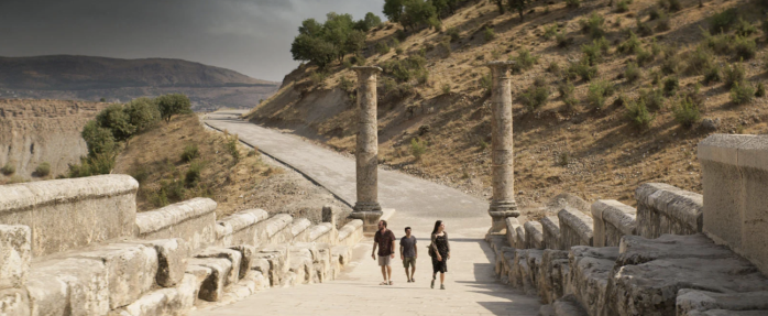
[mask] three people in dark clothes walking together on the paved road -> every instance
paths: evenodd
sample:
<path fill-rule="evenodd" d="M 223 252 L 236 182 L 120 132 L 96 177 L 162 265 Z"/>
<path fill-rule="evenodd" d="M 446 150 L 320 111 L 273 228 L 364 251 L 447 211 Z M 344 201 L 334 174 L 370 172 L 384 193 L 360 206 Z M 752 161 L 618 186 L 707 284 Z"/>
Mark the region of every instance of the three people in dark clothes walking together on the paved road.
<path fill-rule="evenodd" d="M 378 221 L 378 230 L 373 237 L 373 251 L 371 252 L 371 258 L 373 260 L 378 260 L 378 265 L 382 268 L 382 276 L 384 282 L 380 285 L 393 285 L 392 281 L 392 259 L 395 259 L 395 233 L 387 229 L 386 220 Z M 448 272 L 447 261 L 451 258 L 451 247 L 448 242 L 448 235 L 446 233 L 446 225 L 442 220 L 435 222 L 435 229 L 431 233 L 431 243 L 428 247 L 428 254 L 432 259 L 432 282 L 430 287 L 435 288 L 435 281 L 437 280 L 438 272 L 440 273 L 440 290 L 446 290 L 446 272 Z M 378 252 L 376 252 L 378 249 Z M 410 227 L 405 228 L 405 236 L 401 238 L 401 260 L 403 261 L 403 266 L 405 268 L 405 276 L 408 283 L 416 282 L 414 279 L 414 273 L 416 272 L 416 259 L 418 258 L 418 251 L 416 249 L 416 237 L 412 235 Z M 410 268 L 410 272 L 408 269 Z"/>

